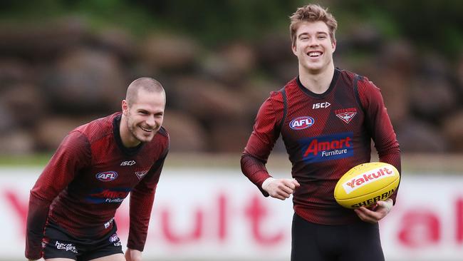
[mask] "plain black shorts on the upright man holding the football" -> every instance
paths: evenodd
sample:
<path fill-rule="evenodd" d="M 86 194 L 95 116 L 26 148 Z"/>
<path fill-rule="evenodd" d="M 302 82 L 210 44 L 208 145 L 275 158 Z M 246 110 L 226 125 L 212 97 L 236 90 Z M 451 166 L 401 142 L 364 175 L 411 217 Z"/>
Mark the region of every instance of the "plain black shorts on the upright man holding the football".
<path fill-rule="evenodd" d="M 293 216 L 291 261 L 384 261 L 378 223 L 319 225 Z"/>

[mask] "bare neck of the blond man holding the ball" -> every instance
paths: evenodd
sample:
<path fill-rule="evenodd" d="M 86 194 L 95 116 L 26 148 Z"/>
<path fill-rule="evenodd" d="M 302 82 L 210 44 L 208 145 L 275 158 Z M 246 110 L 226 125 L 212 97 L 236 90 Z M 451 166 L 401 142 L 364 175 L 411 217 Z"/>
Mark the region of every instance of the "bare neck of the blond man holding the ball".
<path fill-rule="evenodd" d="M 299 66 L 299 80 L 302 85 L 313 93 L 325 93 L 330 88 L 334 76 L 334 66 L 328 66 L 324 71 L 307 71 Z"/>

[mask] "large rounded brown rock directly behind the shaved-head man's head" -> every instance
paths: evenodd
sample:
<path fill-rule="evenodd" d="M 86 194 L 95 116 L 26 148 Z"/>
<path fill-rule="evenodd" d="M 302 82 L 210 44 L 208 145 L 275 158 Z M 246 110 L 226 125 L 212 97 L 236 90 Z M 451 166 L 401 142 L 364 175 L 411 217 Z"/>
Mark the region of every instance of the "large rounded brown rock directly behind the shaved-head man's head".
<path fill-rule="evenodd" d="M 111 53 L 80 49 L 60 58 L 43 82 L 49 106 L 61 113 L 120 111 L 128 81 Z"/>

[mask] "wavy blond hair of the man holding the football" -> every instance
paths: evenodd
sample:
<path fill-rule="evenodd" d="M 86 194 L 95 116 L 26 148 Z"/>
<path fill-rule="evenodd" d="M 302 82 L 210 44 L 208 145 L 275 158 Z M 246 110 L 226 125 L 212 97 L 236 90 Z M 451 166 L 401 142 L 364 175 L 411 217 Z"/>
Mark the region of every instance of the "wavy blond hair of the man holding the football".
<path fill-rule="evenodd" d="M 296 44 L 296 31 L 301 22 L 315 22 L 323 21 L 330 30 L 331 42 L 335 43 L 335 31 L 338 28 L 338 21 L 334 18 L 333 14 L 328 12 L 328 9 L 324 9 L 318 4 L 308 4 L 306 6 L 299 7 L 294 14 L 289 16 L 291 24 L 289 25 L 289 31 L 291 33 L 291 44 Z"/>

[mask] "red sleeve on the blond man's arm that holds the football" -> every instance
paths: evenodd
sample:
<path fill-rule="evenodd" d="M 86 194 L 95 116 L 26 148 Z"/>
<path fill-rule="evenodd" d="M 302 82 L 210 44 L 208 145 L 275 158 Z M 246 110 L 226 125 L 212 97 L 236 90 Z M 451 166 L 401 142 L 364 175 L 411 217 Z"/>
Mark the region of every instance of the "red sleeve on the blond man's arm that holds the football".
<path fill-rule="evenodd" d="M 365 108 L 367 128 L 375 143 L 379 160 L 393 165 L 402 174 L 399 143 L 387 114 L 380 89 L 371 81 L 368 81 L 368 79 L 364 79 L 363 81 L 358 81 L 358 90 L 360 101 L 363 104 L 363 108 Z M 391 196 L 394 204 L 397 198 L 397 190 Z"/>

